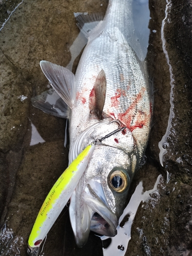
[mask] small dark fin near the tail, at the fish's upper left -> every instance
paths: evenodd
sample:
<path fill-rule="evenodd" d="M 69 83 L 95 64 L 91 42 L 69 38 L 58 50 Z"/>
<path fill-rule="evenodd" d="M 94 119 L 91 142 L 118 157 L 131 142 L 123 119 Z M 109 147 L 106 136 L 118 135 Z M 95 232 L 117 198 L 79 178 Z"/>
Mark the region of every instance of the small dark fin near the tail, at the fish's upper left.
<path fill-rule="evenodd" d="M 87 38 L 90 32 L 99 24 L 103 19 L 104 15 L 102 13 L 88 13 L 88 12 L 74 12 L 75 18 L 77 20 L 77 27 Z"/>

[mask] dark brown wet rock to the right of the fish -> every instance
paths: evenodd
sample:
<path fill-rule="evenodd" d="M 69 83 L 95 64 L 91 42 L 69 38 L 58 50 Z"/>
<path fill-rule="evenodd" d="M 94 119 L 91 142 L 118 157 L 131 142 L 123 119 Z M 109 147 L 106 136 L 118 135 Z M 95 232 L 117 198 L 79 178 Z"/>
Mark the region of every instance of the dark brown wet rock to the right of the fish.
<path fill-rule="evenodd" d="M 166 5 L 164 39 L 167 55 L 161 40 Z M 153 179 L 157 170 L 162 179 L 157 203 L 153 200 L 141 203 L 137 211 L 126 255 L 192 255 L 191 7 L 191 1 L 169 4 L 150 1 L 152 33 L 147 60 L 155 90 L 154 125 L 148 144 L 151 165 L 147 163 L 135 181 L 139 176 L 143 182 Z M 171 86 L 173 93 L 169 97 Z M 173 108 L 169 117 L 170 100 Z M 167 152 L 163 156 L 164 167 L 161 167 L 158 143 L 166 133 L 168 122 L 170 129 L 164 145 Z M 152 165 L 156 167 L 155 172 L 152 172 Z M 148 190 L 148 185 L 144 188 Z"/>

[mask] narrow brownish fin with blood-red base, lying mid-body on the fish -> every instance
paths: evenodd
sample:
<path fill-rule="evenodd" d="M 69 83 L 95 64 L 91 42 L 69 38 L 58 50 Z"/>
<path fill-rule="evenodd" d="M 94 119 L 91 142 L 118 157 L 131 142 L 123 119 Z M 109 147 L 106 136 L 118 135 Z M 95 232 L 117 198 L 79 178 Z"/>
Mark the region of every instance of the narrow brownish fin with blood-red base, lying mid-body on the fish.
<path fill-rule="evenodd" d="M 97 76 L 94 87 L 90 93 L 89 108 L 90 113 L 102 119 L 102 112 L 106 96 L 106 77 L 104 70 L 101 70 Z"/>

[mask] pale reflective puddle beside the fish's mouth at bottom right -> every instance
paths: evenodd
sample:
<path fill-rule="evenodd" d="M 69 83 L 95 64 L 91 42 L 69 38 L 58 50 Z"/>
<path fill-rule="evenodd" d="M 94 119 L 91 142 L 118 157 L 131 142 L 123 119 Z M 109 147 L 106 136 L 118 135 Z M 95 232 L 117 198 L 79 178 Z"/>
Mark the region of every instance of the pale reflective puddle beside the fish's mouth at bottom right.
<path fill-rule="evenodd" d="M 129 241 L 131 240 L 131 227 L 133 221 L 135 219 L 137 209 L 141 202 L 148 203 L 149 200 L 153 201 L 152 203 L 157 203 L 158 197 L 158 188 L 157 186 L 160 184 L 161 175 L 158 176 L 157 181 L 154 185 L 154 188 L 151 190 L 147 190 L 143 193 L 143 184 L 142 181 L 137 185 L 134 194 L 131 197 L 129 204 L 123 211 L 122 216 L 119 219 L 119 225 L 117 227 L 117 235 L 114 238 L 101 237 L 101 240 L 111 239 L 111 244 L 108 248 L 103 249 L 104 256 L 111 255 L 124 255 Z M 152 194 L 156 194 L 156 197 L 153 198 Z M 143 207 L 144 205 L 142 205 Z M 128 221 L 125 222 L 123 226 L 121 226 L 121 222 L 123 219 L 127 218 Z M 142 232 L 141 229 L 137 228 L 139 232 Z M 129 250 L 128 250 L 129 252 Z"/>

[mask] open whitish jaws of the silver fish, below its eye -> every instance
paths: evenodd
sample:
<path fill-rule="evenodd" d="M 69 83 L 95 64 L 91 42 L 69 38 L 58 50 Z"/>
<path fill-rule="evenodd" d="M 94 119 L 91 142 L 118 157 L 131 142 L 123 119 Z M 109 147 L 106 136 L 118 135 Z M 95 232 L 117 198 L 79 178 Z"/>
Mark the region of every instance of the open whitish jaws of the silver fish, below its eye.
<path fill-rule="evenodd" d="M 100 192 L 96 193 L 94 190 Z M 104 193 L 98 186 L 93 189 L 87 184 L 81 194 L 81 202 L 77 200 L 75 193 L 71 197 L 70 220 L 78 247 L 86 244 L 90 230 L 101 236 L 114 237 L 117 234 L 117 217 L 102 195 L 104 196 Z"/>

